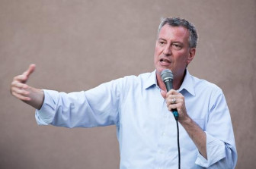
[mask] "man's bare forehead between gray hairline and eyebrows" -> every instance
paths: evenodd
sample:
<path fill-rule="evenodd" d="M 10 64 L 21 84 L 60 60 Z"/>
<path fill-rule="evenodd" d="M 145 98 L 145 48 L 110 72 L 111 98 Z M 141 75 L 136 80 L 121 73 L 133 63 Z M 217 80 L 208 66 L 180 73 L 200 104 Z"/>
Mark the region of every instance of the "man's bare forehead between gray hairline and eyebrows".
<path fill-rule="evenodd" d="M 189 31 L 185 27 L 172 27 L 165 24 L 158 34 L 158 39 L 188 42 L 189 35 Z"/>

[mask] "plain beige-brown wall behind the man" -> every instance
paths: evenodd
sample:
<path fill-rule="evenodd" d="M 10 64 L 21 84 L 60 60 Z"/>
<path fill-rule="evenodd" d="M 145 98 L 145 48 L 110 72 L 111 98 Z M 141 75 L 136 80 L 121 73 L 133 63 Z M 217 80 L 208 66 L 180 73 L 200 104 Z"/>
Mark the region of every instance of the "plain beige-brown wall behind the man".
<path fill-rule="evenodd" d="M 254 168 L 254 0 L 0 0 L 0 168 L 118 168 L 115 127 L 39 127 L 34 109 L 12 97 L 9 85 L 30 63 L 37 64 L 30 85 L 64 92 L 152 71 L 156 30 L 167 16 L 197 26 L 190 73 L 223 89 L 236 168 Z"/>

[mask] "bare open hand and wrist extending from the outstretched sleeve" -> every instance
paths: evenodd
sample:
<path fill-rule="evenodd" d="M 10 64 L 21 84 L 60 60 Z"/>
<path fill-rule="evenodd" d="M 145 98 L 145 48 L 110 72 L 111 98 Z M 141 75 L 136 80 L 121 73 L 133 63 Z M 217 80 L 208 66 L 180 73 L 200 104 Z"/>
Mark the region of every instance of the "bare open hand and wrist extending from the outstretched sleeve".
<path fill-rule="evenodd" d="M 36 89 L 26 84 L 30 74 L 34 72 L 35 68 L 35 64 L 30 64 L 23 74 L 14 77 L 11 82 L 11 94 L 28 105 L 31 105 L 36 109 L 40 109 L 43 105 L 43 90 Z"/>

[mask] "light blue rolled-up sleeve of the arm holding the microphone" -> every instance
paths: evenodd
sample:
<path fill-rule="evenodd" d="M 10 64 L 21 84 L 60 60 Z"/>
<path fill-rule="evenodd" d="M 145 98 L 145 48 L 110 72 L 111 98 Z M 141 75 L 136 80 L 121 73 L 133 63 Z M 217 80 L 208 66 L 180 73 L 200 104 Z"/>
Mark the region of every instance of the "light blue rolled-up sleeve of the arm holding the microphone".
<path fill-rule="evenodd" d="M 207 159 L 198 152 L 196 164 L 207 168 L 235 168 L 237 152 L 232 121 L 221 89 L 210 99 L 210 114 L 206 125 Z"/>

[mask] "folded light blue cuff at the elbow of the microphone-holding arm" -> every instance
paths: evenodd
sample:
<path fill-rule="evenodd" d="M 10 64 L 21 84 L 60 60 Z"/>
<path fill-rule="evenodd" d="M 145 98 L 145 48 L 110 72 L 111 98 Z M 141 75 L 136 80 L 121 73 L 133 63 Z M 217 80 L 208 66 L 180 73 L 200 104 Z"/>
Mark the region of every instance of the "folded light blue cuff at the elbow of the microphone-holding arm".
<path fill-rule="evenodd" d="M 206 152 L 207 159 L 198 152 L 196 164 L 202 167 L 210 167 L 212 164 L 226 157 L 226 147 L 224 142 L 215 139 L 210 134 L 206 133 Z"/>

